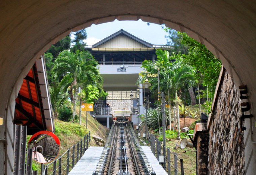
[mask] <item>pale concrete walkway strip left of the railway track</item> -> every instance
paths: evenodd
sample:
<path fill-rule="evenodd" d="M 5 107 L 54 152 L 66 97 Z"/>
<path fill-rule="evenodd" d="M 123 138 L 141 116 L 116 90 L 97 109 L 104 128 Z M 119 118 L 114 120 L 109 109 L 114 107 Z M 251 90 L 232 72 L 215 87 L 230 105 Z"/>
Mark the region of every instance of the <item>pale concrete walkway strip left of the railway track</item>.
<path fill-rule="evenodd" d="M 69 175 L 92 175 L 101 155 L 103 147 L 90 146 Z"/>

